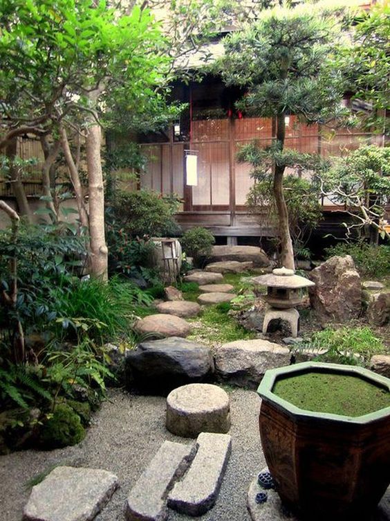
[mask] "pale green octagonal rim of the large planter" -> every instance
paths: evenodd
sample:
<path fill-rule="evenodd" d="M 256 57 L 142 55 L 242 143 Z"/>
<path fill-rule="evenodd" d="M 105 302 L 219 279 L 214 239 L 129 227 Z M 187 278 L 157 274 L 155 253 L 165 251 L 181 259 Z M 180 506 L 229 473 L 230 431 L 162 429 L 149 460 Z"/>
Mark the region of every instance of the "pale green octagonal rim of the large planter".
<path fill-rule="evenodd" d="M 363 416 L 343 416 L 342 414 L 308 411 L 306 409 L 300 409 L 272 392 L 275 380 L 277 380 L 279 376 L 293 376 L 294 373 L 304 374 L 312 371 L 315 373 L 344 373 L 351 376 L 362 376 L 364 380 L 378 383 L 382 385 L 382 387 L 387 388 L 390 392 L 390 378 L 378 375 L 369 369 L 353 365 L 328 364 L 324 362 L 301 362 L 290 366 L 277 367 L 276 369 L 268 369 L 263 376 L 263 380 L 260 382 L 257 394 L 259 394 L 263 400 L 271 402 L 284 412 L 288 412 L 299 418 L 313 418 L 313 420 L 317 421 L 337 421 L 339 423 L 365 425 L 366 423 L 371 423 L 372 421 L 390 416 L 390 406 L 370 412 L 369 414 L 364 414 Z"/>

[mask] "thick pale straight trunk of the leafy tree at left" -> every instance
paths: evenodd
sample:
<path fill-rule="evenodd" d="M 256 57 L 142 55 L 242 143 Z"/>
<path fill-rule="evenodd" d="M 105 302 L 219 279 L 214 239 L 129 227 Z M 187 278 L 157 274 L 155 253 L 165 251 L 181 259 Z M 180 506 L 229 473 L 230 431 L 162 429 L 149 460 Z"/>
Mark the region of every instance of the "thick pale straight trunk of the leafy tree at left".
<path fill-rule="evenodd" d="M 100 147 L 100 126 L 92 119 L 86 136 L 91 275 L 106 280 L 108 278 L 108 249 L 104 233 L 104 184 Z"/>

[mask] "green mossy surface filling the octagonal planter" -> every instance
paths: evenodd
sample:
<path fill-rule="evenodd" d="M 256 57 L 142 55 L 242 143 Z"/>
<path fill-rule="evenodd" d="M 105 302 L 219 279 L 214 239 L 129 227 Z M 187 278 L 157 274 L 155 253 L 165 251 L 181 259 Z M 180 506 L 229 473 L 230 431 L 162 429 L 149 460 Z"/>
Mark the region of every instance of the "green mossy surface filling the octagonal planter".
<path fill-rule="evenodd" d="M 362 378 L 305 373 L 277 380 L 272 393 L 308 411 L 362 416 L 390 407 L 390 393 Z"/>

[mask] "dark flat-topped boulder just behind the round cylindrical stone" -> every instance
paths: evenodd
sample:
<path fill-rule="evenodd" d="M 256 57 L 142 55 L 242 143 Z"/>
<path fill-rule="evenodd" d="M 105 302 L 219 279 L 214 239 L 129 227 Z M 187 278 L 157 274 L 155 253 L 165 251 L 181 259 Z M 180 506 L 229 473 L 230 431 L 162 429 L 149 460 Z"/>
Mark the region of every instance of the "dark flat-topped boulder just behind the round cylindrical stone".
<path fill-rule="evenodd" d="M 180 385 L 208 380 L 214 373 L 210 348 L 170 337 L 142 342 L 126 357 L 127 382 L 142 389 L 169 391 Z"/>

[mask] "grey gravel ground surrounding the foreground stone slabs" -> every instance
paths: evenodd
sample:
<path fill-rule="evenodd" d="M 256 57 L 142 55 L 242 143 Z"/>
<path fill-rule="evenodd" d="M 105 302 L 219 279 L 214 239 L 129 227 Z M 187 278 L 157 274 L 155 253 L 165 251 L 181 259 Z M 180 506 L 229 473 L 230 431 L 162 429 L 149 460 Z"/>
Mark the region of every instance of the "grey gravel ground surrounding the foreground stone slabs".
<path fill-rule="evenodd" d="M 250 521 L 246 494 L 265 466 L 259 439 L 260 400 L 254 391 L 229 389 L 232 455 L 214 508 L 201 521 Z M 165 429 L 165 398 L 134 396 L 111 389 L 93 418 L 86 439 L 75 447 L 50 452 L 25 450 L 0 456 L 0 518 L 20 521 L 28 500 L 28 481 L 60 463 L 103 468 L 118 476 L 120 488 L 96 521 L 124 521 L 127 492 L 165 440 L 190 443 Z M 169 511 L 168 521 L 193 520 Z"/>

